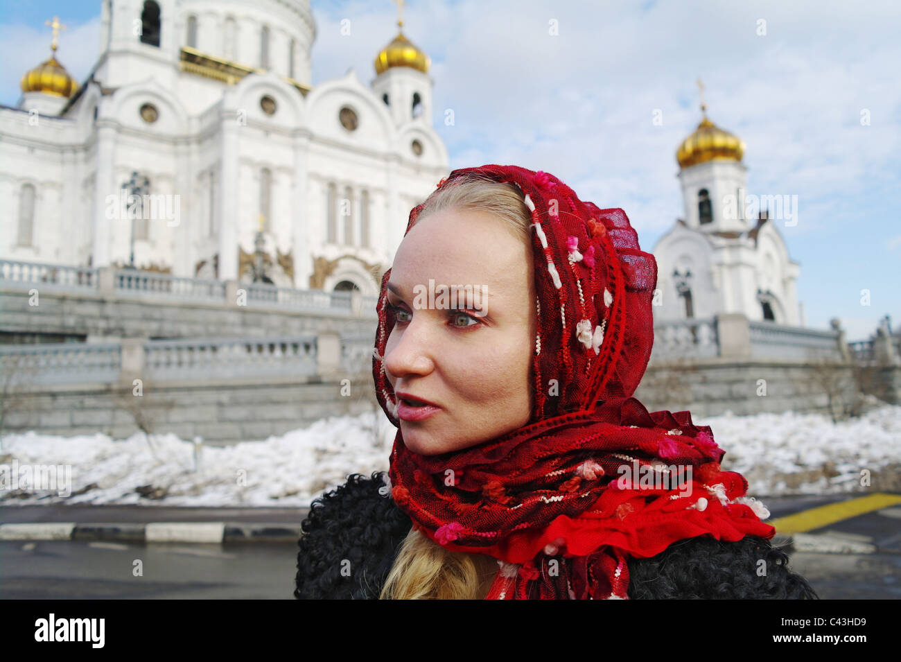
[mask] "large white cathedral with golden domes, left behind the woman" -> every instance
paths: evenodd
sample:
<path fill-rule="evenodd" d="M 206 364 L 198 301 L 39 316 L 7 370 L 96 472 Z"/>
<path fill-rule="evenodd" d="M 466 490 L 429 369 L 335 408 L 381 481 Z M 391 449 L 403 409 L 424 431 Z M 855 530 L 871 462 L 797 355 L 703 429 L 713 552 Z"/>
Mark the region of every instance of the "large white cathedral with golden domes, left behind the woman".
<path fill-rule="evenodd" d="M 0 258 L 378 294 L 449 172 L 429 58 L 397 23 L 370 86 L 312 86 L 309 0 L 103 0 L 79 85 L 54 19 L 0 106 Z"/>

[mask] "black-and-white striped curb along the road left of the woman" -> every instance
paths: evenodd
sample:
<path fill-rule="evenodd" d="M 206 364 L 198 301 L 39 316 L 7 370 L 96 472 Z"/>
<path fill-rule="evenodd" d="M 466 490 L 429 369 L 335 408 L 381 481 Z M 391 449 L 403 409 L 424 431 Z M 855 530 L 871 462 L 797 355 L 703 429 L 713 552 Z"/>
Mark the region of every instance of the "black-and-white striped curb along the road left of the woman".
<path fill-rule="evenodd" d="M 3 540 L 123 540 L 127 542 L 290 542 L 300 539 L 300 525 L 249 524 L 241 521 L 159 521 L 0 524 Z"/>

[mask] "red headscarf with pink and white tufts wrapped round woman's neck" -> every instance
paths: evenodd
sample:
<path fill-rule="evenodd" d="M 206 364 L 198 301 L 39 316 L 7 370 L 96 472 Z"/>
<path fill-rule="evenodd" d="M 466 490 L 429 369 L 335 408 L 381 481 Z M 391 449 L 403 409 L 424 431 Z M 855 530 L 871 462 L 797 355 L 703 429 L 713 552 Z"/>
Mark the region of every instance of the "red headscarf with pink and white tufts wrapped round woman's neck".
<path fill-rule="evenodd" d="M 522 428 L 474 447 L 407 449 L 382 360 L 394 328 L 388 269 L 373 377 L 398 427 L 392 498 L 414 528 L 446 549 L 496 557 L 489 599 L 625 599 L 630 556 L 701 535 L 772 538 L 744 477 L 720 469 L 724 450 L 709 426 L 688 412 L 649 413 L 632 397 L 651 357 L 657 263 L 623 210 L 598 209 L 557 177 L 516 166 L 461 168 L 438 187 L 468 175 L 514 184 L 532 213 L 534 405 Z"/>

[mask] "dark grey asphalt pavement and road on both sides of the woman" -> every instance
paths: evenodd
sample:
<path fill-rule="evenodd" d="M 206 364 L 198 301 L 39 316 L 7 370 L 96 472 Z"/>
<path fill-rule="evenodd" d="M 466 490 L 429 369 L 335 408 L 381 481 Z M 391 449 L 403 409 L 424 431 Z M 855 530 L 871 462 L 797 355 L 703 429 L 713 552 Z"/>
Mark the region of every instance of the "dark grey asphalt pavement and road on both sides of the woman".
<path fill-rule="evenodd" d="M 762 499 L 773 517 L 851 497 Z M 32 510 L 37 509 L 37 510 Z M 159 506 L 5 506 L 0 521 L 278 521 L 299 523 L 298 509 Z M 868 512 L 809 531 L 866 541 L 870 553 L 795 551 L 790 567 L 826 599 L 901 598 L 901 507 Z M 142 575 L 135 576 L 140 561 Z M 296 545 L 282 543 L 121 543 L 85 540 L 0 542 L 2 599 L 293 600 Z"/>

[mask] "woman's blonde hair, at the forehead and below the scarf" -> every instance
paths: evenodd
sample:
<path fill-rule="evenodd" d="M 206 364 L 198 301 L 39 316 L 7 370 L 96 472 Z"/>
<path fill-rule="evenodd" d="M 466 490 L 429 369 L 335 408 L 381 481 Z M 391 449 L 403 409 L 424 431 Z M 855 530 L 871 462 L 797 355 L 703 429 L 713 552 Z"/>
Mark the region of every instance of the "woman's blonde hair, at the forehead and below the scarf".
<path fill-rule="evenodd" d="M 512 184 L 478 174 L 456 177 L 425 199 L 415 222 L 430 213 L 451 209 L 490 213 L 504 222 L 514 237 L 531 245 L 532 216 L 523 195 Z M 444 549 L 411 529 L 401 543 L 379 599 L 475 600 L 487 592 L 487 583 L 496 572 L 495 558 Z"/>

